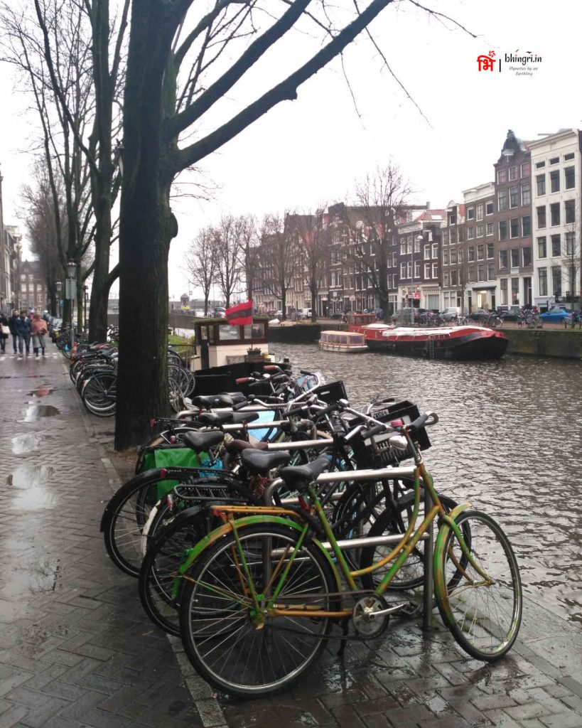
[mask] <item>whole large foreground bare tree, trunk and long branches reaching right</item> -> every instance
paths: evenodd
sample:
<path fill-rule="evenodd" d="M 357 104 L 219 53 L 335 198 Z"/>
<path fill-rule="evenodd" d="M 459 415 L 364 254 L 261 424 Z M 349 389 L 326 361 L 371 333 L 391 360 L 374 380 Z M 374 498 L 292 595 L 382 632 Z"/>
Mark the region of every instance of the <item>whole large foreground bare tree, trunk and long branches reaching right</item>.
<path fill-rule="evenodd" d="M 178 233 L 170 209 L 175 177 L 276 104 L 297 98 L 298 87 L 390 3 L 355 4 L 351 22 L 327 4 L 308 9 L 309 0 L 275 5 L 272 0 L 215 0 L 210 9 L 199 9 L 193 0 L 132 4 L 124 98 L 116 448 L 140 443 L 147 435 L 148 417 L 165 413 L 169 406 L 167 258 Z M 225 122 L 207 122 L 207 112 L 212 114 L 263 55 L 295 29 L 318 36 L 313 55 Z M 207 131 L 200 135 L 203 129 Z M 150 335 L 144 339 L 146 325 Z M 137 363 L 136 347 L 141 352 Z"/>

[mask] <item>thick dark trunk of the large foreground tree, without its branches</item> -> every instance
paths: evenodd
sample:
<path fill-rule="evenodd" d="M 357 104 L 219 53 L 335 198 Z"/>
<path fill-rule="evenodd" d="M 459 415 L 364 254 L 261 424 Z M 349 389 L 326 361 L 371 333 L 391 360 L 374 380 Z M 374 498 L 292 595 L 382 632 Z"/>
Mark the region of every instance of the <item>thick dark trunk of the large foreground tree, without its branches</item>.
<path fill-rule="evenodd" d="M 171 4 L 132 6 L 124 98 L 125 175 L 119 228 L 119 364 L 115 447 L 143 443 L 148 420 L 170 410 L 167 380 L 171 173 L 160 130 L 162 82 L 175 30 Z M 146 394 L 147 393 L 147 394 Z"/>

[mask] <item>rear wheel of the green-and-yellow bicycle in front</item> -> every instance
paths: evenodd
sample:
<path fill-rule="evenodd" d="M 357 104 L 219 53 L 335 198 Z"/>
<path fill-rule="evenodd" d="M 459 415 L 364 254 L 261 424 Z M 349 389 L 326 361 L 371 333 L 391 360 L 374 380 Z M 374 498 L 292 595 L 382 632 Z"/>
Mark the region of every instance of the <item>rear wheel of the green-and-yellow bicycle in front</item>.
<path fill-rule="evenodd" d="M 319 657 L 330 630 L 328 617 L 253 614 L 249 587 L 270 587 L 273 550 L 292 549 L 298 531 L 265 523 L 222 537 L 194 561 L 183 587 L 180 632 L 186 654 L 204 680 L 231 695 L 270 695 L 290 686 Z M 240 553 L 248 575 L 240 566 Z M 288 564 L 287 564 L 288 566 Z M 279 571 L 279 574 L 281 571 Z M 276 581 L 276 579 L 275 579 Z M 277 604 L 308 604 L 327 611 L 335 601 L 332 566 L 316 545 L 303 545 L 290 565 Z M 263 601 L 264 604 L 264 601 Z"/>

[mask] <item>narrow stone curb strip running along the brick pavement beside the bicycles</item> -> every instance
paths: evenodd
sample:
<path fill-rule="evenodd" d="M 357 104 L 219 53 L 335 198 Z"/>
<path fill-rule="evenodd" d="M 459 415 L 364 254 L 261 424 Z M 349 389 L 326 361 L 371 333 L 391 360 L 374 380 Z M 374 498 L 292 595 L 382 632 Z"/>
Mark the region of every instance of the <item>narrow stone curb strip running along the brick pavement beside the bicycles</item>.
<path fill-rule="evenodd" d="M 68 377 L 68 367 L 65 362 L 63 362 L 63 369 Z M 71 379 L 68 378 L 68 382 L 70 381 Z M 73 387 L 72 384 L 71 387 Z M 105 472 L 108 476 L 109 486 L 111 491 L 114 493 L 117 488 L 123 485 L 123 480 L 121 480 L 119 472 L 111 461 L 111 458 L 105 453 L 103 444 L 97 438 L 93 423 L 91 419 L 89 419 L 87 412 L 84 411 L 83 404 L 80 401 L 78 393 L 76 393 L 76 395 L 76 406 L 81 416 L 81 421 L 83 422 L 85 431 L 87 432 L 87 437 L 89 438 L 89 441 L 95 445 L 100 454 L 100 460 L 103 463 L 103 467 L 105 468 Z M 180 640 L 170 635 L 166 635 L 166 637 L 170 643 L 176 662 L 178 662 L 178 667 L 180 668 L 184 684 L 186 684 L 188 692 L 191 695 L 192 702 L 196 706 L 196 710 L 199 713 L 204 728 L 228 728 L 226 718 L 222 708 L 220 708 L 220 705 L 218 704 L 218 700 L 216 700 L 215 693 L 212 692 L 210 685 L 197 675 L 196 671 L 188 661 L 186 653 L 182 649 Z"/>

